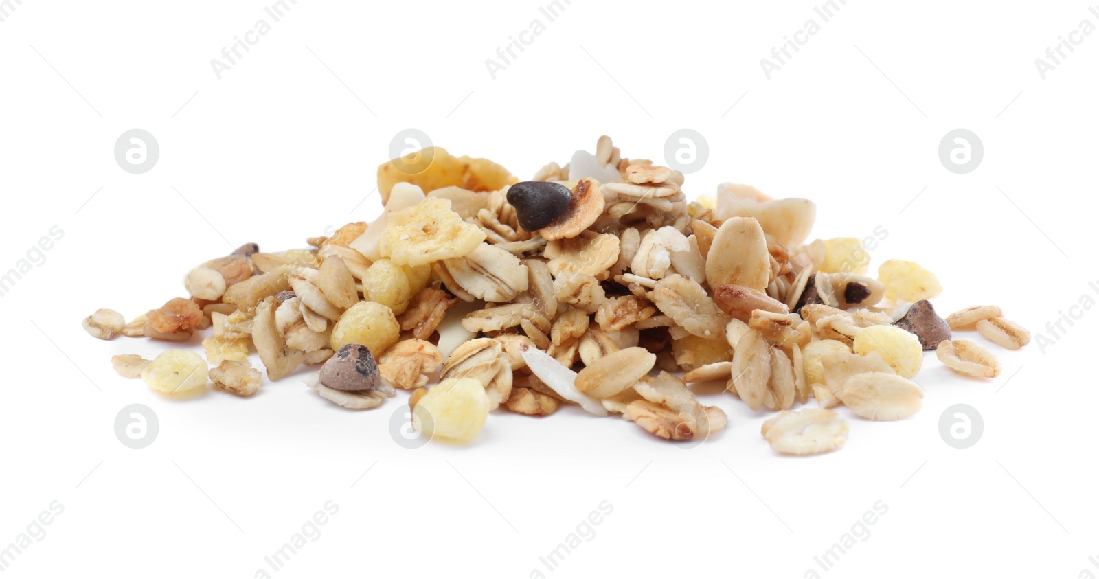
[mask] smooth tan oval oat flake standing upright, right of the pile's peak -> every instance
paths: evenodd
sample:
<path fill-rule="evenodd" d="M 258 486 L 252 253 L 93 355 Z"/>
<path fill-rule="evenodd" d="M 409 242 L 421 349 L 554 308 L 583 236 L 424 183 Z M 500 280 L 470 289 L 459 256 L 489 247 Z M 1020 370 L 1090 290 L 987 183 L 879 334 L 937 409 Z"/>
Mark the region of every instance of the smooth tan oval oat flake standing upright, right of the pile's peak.
<path fill-rule="evenodd" d="M 721 224 L 707 253 L 706 279 L 710 287 L 745 286 L 758 292 L 770 281 L 770 254 L 759 222 L 731 218 Z"/>

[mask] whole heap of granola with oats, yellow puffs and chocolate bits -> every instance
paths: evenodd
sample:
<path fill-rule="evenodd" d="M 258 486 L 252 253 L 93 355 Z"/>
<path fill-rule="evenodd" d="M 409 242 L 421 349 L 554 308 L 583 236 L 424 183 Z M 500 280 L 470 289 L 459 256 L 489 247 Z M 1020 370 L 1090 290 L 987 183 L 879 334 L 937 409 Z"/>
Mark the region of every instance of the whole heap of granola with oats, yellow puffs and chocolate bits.
<path fill-rule="evenodd" d="M 915 263 L 886 261 L 875 279 L 859 240 L 808 243 L 809 200 L 724 183 L 688 201 L 682 187 L 682 174 L 624 158 L 607 136 L 524 182 L 429 147 L 379 167 L 373 222 L 303 249 L 246 244 L 191 269 L 189 298 L 84 324 L 102 339 L 210 330 L 204 359 L 113 358 L 162 392 L 212 380 L 252 396 L 254 349 L 270 381 L 320 365 L 309 386 L 348 409 L 411 391 L 415 427 L 457 441 L 500 407 L 562 404 L 666 439 L 704 437 L 726 415 L 688 385 L 721 380 L 752 410 L 777 411 L 764 438 L 796 455 L 845 443 L 834 407 L 868 420 L 918 412 L 924 350 L 967 376 L 999 375 L 988 349 L 953 331 L 1012 349 L 1030 341 L 992 305 L 940 318 L 928 300 L 942 287 Z M 818 409 L 790 410 L 810 399 Z"/>

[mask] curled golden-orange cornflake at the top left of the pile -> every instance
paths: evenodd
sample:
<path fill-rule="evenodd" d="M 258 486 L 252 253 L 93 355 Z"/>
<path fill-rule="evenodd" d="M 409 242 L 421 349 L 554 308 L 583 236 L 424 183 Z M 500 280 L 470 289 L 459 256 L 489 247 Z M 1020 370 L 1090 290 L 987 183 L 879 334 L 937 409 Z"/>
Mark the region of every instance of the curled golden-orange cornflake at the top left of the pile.
<path fill-rule="evenodd" d="M 519 182 L 508 169 L 489 159 L 455 157 L 443 147 L 425 147 L 378 167 L 381 203 L 399 182 L 417 185 L 424 191 L 456 186 L 469 191 L 497 191 Z"/>

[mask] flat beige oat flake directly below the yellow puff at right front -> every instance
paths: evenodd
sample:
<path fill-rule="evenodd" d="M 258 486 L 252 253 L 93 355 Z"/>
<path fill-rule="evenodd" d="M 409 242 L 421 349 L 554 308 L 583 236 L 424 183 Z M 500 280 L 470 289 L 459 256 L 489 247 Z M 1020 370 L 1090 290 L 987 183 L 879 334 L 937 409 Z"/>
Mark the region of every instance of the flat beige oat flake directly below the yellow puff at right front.
<path fill-rule="evenodd" d="M 869 420 L 900 420 L 923 408 L 923 391 L 915 382 L 886 372 L 852 376 L 836 396 L 852 412 Z"/>

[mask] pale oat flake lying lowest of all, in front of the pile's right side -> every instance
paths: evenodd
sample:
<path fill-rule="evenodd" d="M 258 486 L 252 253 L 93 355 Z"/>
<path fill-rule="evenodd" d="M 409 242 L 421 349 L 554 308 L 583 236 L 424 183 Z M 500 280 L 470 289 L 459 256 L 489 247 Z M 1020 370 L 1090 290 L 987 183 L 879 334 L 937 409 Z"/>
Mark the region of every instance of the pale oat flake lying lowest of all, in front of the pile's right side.
<path fill-rule="evenodd" d="M 761 433 L 776 452 L 818 455 L 847 442 L 847 423 L 831 410 L 782 411 L 764 422 Z"/>

